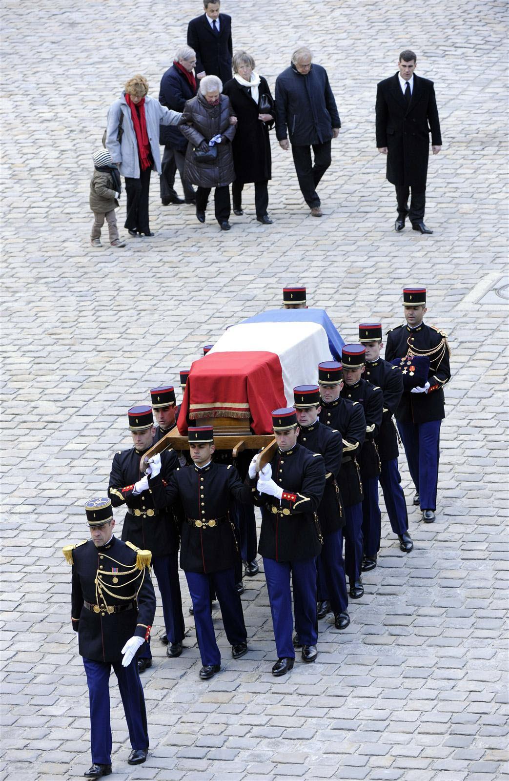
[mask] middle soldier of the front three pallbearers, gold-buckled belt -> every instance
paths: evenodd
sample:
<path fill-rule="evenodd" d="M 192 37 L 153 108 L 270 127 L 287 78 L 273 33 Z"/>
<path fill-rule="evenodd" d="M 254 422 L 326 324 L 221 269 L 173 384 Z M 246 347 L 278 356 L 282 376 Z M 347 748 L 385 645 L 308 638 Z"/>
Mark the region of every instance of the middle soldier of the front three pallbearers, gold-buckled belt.
<path fill-rule="evenodd" d="M 172 507 L 180 500 L 182 524 L 180 566 L 193 601 L 194 624 L 200 648 L 200 678 L 212 678 L 221 669 L 221 654 L 215 641 L 210 612 L 211 590 L 221 608 L 232 656 L 247 653 L 247 632 L 234 569 L 239 558 L 237 540 L 230 520 L 230 502 L 251 502 L 251 490 L 240 482 L 232 465 L 212 463 L 212 426 L 195 426 L 188 431 L 190 456 L 194 464 L 176 469 L 169 480 L 163 474 L 161 457 L 150 459 L 149 485 L 155 506 Z"/>

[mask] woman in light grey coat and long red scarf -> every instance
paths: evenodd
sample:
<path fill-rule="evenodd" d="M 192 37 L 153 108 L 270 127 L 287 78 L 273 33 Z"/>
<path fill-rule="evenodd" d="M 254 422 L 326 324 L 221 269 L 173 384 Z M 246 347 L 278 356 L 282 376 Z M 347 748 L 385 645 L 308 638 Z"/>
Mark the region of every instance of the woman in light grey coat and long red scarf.
<path fill-rule="evenodd" d="M 153 236 L 148 219 L 150 173 L 161 175 L 159 126 L 178 125 L 180 112 L 166 109 L 149 98 L 148 81 L 134 76 L 126 82 L 122 97 L 108 112 L 106 148 L 126 180 L 127 216 L 130 236 Z"/>

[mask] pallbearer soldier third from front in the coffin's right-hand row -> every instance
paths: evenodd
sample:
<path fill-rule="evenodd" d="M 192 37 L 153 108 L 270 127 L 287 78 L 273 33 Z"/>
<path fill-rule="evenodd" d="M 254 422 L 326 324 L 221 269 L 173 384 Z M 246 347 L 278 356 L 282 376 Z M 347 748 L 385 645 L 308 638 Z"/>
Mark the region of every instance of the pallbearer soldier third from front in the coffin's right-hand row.
<path fill-rule="evenodd" d="M 350 596 L 359 599 L 364 594 L 360 577 L 362 565 L 362 480 L 358 459 L 366 435 L 364 409 L 358 401 L 340 397 L 343 388 L 342 366 L 337 361 L 319 364 L 319 388 L 322 409 L 320 423 L 340 432 L 343 438 L 343 458 L 339 487 L 345 515 L 344 563 L 350 582 Z"/>

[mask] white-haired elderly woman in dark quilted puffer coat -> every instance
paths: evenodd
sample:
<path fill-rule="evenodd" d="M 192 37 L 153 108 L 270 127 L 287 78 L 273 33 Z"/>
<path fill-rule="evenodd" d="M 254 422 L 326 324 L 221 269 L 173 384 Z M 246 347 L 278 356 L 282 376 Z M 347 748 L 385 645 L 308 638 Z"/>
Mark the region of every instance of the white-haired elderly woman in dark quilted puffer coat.
<path fill-rule="evenodd" d="M 230 230 L 230 187 L 235 179 L 231 141 L 235 135 L 230 98 L 221 95 L 222 81 L 217 76 L 205 76 L 195 98 L 188 100 L 180 120 L 180 130 L 187 144 L 184 178 L 196 185 L 196 216 L 205 223 L 205 209 L 212 187 L 215 219 L 221 230 Z M 212 141 L 212 144 L 209 142 Z M 200 154 L 214 150 L 212 159 L 201 160 Z"/>

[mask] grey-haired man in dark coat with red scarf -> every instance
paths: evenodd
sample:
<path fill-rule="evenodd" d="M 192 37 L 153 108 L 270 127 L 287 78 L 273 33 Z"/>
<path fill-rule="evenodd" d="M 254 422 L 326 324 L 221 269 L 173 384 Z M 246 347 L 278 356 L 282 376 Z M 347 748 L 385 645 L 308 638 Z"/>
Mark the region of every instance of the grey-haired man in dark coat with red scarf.
<path fill-rule="evenodd" d="M 168 109 L 183 111 L 186 101 L 194 98 L 197 91 L 196 78 L 193 69 L 196 66 L 196 55 L 190 46 L 179 46 L 176 50 L 173 66 L 163 74 L 159 91 L 159 102 Z M 164 144 L 162 156 L 161 202 L 163 206 L 170 203 L 195 203 L 194 189 L 183 176 L 183 165 L 186 157 L 187 140 L 178 127 L 161 126 L 159 141 Z M 182 181 L 183 197 L 179 198 L 175 191 L 175 174 L 179 169 Z"/>

